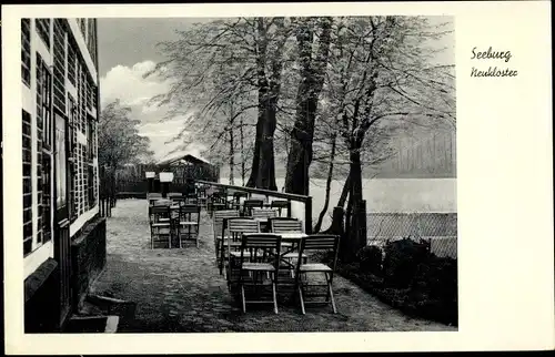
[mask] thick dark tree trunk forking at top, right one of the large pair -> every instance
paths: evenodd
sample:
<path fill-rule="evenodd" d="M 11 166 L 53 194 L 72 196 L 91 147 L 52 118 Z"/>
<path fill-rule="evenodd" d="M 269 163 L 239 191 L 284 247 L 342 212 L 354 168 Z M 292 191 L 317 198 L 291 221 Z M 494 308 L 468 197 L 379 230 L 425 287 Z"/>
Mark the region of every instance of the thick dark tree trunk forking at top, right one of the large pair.
<path fill-rule="evenodd" d="M 331 18 L 322 19 L 319 53 L 312 60 L 314 33 L 311 20 L 304 20 L 297 28 L 297 48 L 301 61 L 301 82 L 296 94 L 295 123 L 291 131 L 291 149 L 287 155 L 285 192 L 309 195 L 309 167 L 312 163 L 312 142 L 317 100 L 324 84 L 327 65 Z"/>

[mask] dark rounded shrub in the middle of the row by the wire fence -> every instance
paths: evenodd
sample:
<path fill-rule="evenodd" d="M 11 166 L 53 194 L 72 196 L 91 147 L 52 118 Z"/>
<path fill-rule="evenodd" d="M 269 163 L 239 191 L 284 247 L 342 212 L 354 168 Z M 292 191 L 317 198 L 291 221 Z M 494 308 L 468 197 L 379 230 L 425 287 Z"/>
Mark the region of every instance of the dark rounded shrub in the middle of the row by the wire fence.
<path fill-rule="evenodd" d="M 387 242 L 383 261 L 384 283 L 392 287 L 408 287 L 420 263 L 430 256 L 430 243 L 411 238 Z"/>

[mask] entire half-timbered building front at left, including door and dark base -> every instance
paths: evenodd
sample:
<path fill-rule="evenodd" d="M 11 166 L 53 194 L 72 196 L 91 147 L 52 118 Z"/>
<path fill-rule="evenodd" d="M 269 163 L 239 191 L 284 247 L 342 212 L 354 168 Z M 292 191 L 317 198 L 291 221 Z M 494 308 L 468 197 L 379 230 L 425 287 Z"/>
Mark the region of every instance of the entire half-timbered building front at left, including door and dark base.
<path fill-rule="evenodd" d="M 105 262 L 97 45 L 95 19 L 21 19 L 26 332 L 61 329 Z"/>

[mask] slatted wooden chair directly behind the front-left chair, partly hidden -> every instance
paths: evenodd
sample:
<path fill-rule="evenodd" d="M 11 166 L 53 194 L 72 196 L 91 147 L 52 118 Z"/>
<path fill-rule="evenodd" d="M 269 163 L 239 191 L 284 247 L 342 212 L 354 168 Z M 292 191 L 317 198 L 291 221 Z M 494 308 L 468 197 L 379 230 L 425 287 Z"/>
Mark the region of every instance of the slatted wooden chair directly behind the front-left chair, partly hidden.
<path fill-rule="evenodd" d="M 223 274 L 223 266 L 228 262 L 228 280 L 231 279 L 231 271 L 234 258 L 241 256 L 241 237 L 245 233 L 260 233 L 260 222 L 252 218 L 228 218 L 228 234 L 222 235 L 220 246 L 220 274 Z"/>

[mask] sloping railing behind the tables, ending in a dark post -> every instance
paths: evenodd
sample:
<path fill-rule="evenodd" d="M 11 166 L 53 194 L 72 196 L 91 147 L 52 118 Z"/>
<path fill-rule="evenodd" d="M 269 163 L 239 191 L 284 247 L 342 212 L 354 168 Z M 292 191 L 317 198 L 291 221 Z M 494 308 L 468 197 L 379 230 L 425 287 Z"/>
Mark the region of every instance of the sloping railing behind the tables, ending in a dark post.
<path fill-rule="evenodd" d="M 286 200 L 289 203 L 287 215 L 303 220 L 305 224 L 305 233 L 306 234 L 312 233 L 312 196 L 304 196 L 304 195 L 270 191 L 263 188 L 226 185 L 223 183 L 204 181 L 204 180 L 195 180 L 195 183 L 219 187 L 221 190 L 224 190 L 226 195 L 232 195 L 233 192 L 245 192 L 250 196 L 252 196 L 253 194 L 265 196 L 266 200 L 270 198 Z M 302 206 L 295 205 L 295 203 L 302 204 Z"/>

